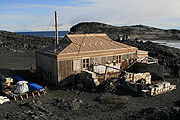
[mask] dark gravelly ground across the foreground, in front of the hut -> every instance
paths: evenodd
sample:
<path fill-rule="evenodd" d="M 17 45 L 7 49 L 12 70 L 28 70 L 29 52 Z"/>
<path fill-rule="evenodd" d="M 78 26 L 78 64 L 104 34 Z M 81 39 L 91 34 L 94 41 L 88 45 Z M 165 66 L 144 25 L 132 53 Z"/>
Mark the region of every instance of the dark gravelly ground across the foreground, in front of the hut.
<path fill-rule="evenodd" d="M 50 89 L 47 95 L 0 105 L 0 118 L 7 120 L 84 119 L 179 119 L 180 89 L 155 97 L 141 97 L 119 89 L 118 93 L 92 93 Z"/>

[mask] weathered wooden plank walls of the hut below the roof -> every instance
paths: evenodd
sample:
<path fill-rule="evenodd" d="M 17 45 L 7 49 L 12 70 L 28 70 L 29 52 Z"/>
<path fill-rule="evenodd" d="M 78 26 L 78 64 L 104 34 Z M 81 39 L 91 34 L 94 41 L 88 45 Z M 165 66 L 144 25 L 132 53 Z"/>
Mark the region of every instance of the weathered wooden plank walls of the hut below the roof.
<path fill-rule="evenodd" d="M 100 63 L 107 64 L 107 61 L 114 60 L 112 56 L 102 56 L 89 58 L 90 64 Z M 132 56 L 133 57 L 133 56 Z M 77 73 L 83 70 L 82 61 L 86 58 L 73 58 L 57 61 L 55 58 L 37 54 L 36 55 L 37 69 L 42 73 L 45 80 L 53 84 L 62 84 L 72 81 Z"/>

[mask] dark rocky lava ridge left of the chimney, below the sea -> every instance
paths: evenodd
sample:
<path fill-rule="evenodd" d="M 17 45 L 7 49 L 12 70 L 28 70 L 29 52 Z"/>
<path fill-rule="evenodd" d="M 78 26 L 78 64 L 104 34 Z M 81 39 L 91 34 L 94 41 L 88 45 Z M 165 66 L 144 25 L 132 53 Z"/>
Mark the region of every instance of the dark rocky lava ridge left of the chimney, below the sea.
<path fill-rule="evenodd" d="M 0 31 L 0 53 L 33 53 L 37 49 L 53 44 L 54 38 Z"/>

